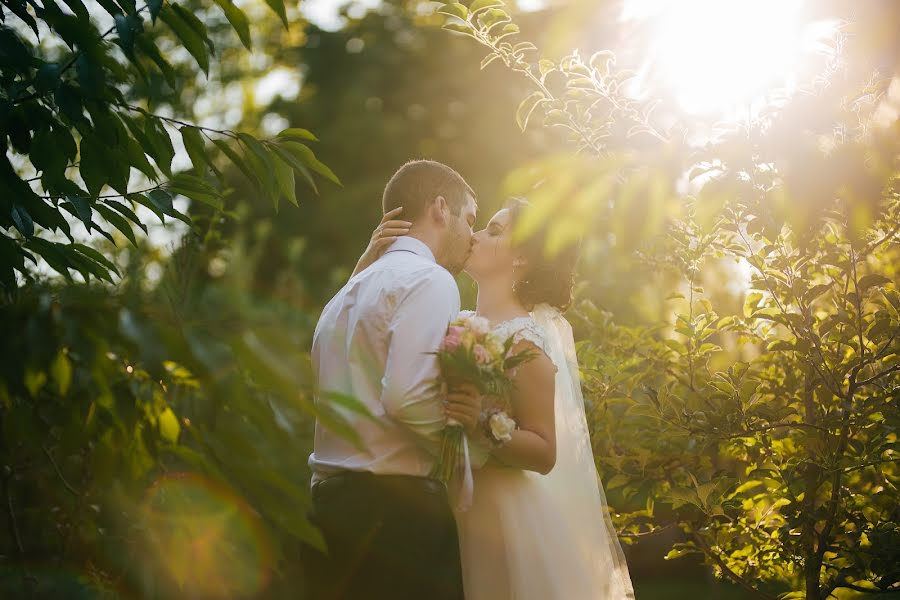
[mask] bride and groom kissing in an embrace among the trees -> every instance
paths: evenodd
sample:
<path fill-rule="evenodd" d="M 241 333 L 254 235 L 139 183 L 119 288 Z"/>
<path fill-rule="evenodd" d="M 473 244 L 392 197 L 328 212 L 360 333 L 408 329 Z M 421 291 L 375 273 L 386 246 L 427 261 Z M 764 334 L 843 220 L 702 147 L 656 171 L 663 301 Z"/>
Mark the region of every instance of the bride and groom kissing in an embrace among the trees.
<path fill-rule="evenodd" d="M 306 565 L 315 600 L 634 597 L 561 313 L 577 246 L 548 257 L 541 232 L 514 236 L 524 200 L 473 233 L 477 208 L 450 167 L 403 165 L 369 247 L 316 326 L 316 402 L 351 396 L 370 414 L 331 407 L 356 440 L 316 423 L 310 518 L 327 554 Z M 474 313 L 460 313 L 460 271 L 478 284 Z M 502 443 L 484 433 L 478 393 L 435 385 L 435 351 L 461 314 L 534 356 L 511 374 L 515 428 Z M 448 419 L 465 428 L 474 467 L 462 508 L 429 477 Z"/>

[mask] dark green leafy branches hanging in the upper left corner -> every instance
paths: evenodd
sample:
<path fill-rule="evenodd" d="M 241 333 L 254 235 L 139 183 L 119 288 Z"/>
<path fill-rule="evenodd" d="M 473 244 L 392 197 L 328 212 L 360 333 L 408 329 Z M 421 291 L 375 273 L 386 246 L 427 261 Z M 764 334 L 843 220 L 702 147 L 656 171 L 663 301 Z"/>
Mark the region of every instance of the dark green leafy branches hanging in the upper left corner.
<path fill-rule="evenodd" d="M 247 17 L 230 1 L 217 4 L 249 48 Z M 36 264 L 42 258 L 67 279 L 73 271 L 84 280 L 111 278 L 104 261 L 78 250 L 63 211 L 88 232 L 115 242 L 115 229 L 132 245 L 137 245 L 132 224 L 146 232 L 135 211 L 148 200 L 161 219 L 165 214 L 190 222 L 171 208 L 173 194 L 225 211 L 230 193 L 221 170 L 225 163 L 207 141 L 237 164 L 276 209 L 282 196 L 297 204 L 295 171 L 313 189 L 311 173 L 338 182 L 306 145 L 314 137 L 294 137 L 290 144 L 258 140 L 149 110 L 156 79 L 162 76 L 176 88 L 181 76 L 161 54 L 160 36 L 171 38 L 167 52 L 180 46 L 204 73 L 210 69 L 215 44 L 193 7 L 101 2 L 114 21 L 101 33 L 80 2 L 71 4 L 73 13 L 54 2 L 34 6 L 34 16 L 24 4 L 4 5 L 15 15 L 0 27 L 0 145 L 5 154 L 0 160 L 0 228 L 5 230 L 0 233 L 0 284 L 7 293 L 32 278 L 25 259 Z M 284 4 L 272 0 L 269 5 L 287 26 Z M 49 33 L 35 43 L 42 27 Z M 193 169 L 173 177 L 170 136 L 176 126 Z M 276 157 L 282 145 L 288 146 L 290 162 Z M 115 193 L 104 194 L 107 187 Z M 69 243 L 60 242 L 63 238 Z"/>

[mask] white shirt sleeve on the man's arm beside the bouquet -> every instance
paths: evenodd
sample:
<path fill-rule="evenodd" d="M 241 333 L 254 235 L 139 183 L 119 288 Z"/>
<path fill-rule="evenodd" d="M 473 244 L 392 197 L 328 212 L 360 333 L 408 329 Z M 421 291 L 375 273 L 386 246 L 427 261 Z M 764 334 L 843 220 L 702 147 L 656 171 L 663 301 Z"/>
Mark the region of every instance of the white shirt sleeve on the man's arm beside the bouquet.
<path fill-rule="evenodd" d="M 437 357 L 428 353 L 438 349 L 458 312 L 453 276 L 434 270 L 416 281 L 391 319 L 381 404 L 389 417 L 427 442 L 438 442 L 446 423 L 435 390 Z"/>

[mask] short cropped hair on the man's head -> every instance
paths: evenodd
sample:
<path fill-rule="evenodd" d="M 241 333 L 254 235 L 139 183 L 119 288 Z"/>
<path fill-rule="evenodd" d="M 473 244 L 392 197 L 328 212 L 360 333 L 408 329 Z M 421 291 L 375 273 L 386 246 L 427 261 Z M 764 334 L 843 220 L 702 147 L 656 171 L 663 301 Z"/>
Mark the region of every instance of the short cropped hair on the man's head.
<path fill-rule="evenodd" d="M 381 205 L 385 213 L 402 206 L 403 212 L 398 218 L 415 221 L 438 196 L 443 196 L 450 211 L 459 215 L 467 194 L 475 197 L 462 175 L 447 165 L 434 160 L 411 160 L 397 169 L 388 181 Z"/>

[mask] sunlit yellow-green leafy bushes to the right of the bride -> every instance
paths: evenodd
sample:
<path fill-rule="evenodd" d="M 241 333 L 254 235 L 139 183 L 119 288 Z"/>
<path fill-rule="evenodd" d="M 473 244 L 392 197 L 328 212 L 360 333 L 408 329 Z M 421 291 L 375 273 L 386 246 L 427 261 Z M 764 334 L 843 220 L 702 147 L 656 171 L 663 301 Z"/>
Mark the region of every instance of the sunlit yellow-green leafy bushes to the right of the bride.
<path fill-rule="evenodd" d="M 626 93 L 613 53 L 543 58 L 499 2 L 440 12 L 487 49 L 482 68 L 499 60 L 531 83 L 520 127 L 540 115 L 580 154 L 524 165 L 506 187 L 534 206 L 521 235 L 550 222 L 548 246 L 586 238 L 572 316 L 623 539 L 675 526 L 667 558 L 700 554 L 756 597 L 895 589 L 900 123 L 876 112 L 890 81 L 873 83 L 856 48 L 687 146 L 691 123 L 667 113 L 661 132 L 652 90 Z M 629 265 L 643 284 L 610 273 Z M 738 298 L 722 294 L 742 276 Z M 590 299 L 603 277 L 631 298 L 672 293 L 625 323 L 598 307 L 617 299 Z"/>

